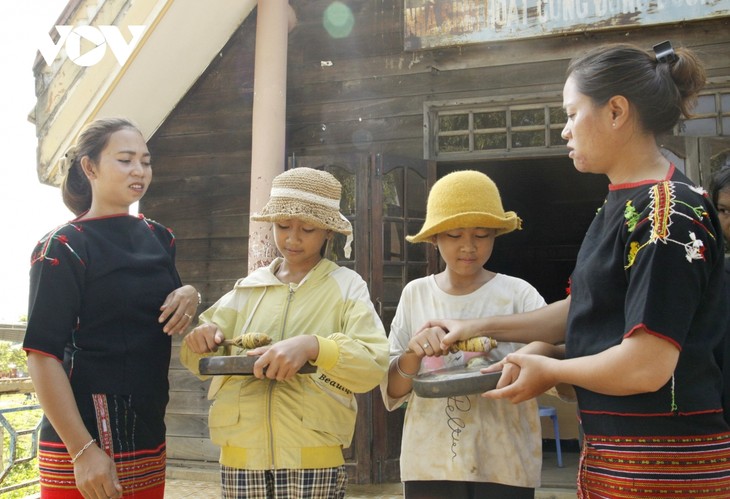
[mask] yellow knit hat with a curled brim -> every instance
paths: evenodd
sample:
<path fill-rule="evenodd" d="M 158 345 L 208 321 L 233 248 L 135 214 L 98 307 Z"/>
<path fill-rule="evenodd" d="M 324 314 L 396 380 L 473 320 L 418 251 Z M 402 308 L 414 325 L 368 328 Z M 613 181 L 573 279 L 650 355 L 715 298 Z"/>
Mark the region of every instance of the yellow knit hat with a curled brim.
<path fill-rule="evenodd" d="M 421 232 L 406 240 L 421 243 L 441 232 L 471 227 L 497 229 L 501 236 L 522 229 L 522 219 L 513 211 L 504 211 L 492 179 L 473 170 L 457 171 L 433 184 Z"/>

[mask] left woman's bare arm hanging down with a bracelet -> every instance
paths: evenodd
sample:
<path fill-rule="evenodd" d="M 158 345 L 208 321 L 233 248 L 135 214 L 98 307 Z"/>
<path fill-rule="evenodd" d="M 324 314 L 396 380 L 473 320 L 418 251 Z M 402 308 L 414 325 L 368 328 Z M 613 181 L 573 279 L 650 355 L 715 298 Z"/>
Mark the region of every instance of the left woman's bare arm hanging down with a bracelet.
<path fill-rule="evenodd" d="M 43 413 L 58 432 L 71 457 L 91 441 L 76 406 L 71 384 L 61 363 L 45 355 L 28 354 L 28 372 Z M 91 445 L 74 463 L 76 486 L 85 498 L 119 498 L 122 486 L 114 461 L 97 445 Z"/>

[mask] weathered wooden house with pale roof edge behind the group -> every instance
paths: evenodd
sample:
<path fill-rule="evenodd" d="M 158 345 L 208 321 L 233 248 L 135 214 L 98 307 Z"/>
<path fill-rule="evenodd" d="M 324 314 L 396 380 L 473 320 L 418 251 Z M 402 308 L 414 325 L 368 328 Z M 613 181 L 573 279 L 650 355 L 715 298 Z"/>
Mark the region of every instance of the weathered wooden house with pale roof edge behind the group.
<path fill-rule="evenodd" d="M 527 279 L 548 302 L 564 296 L 607 186 L 575 171 L 560 138 L 565 70 L 589 48 L 670 40 L 696 50 L 708 85 L 696 117 L 663 146 L 700 183 L 730 161 L 730 0 L 289 4 L 285 150 L 278 164 L 254 166 L 325 168 L 342 181 L 354 258 L 336 257 L 368 281 L 386 324 L 404 284 L 436 268 L 425 245 L 404 237 L 423 222 L 429 186 L 457 169 L 487 173 L 524 220 L 488 265 Z M 57 160 L 87 121 L 135 120 L 154 158 L 140 211 L 173 228 L 178 268 L 207 305 L 250 263 L 259 14 L 253 0 L 71 0 L 58 25 L 116 26 L 126 40 L 126 27 L 143 26 L 139 43 L 126 59 L 107 53 L 84 66 L 61 53 L 34 66 L 41 181 L 59 183 Z M 170 465 L 216 469 L 207 383 L 173 357 Z M 377 390 L 359 406 L 351 480 L 397 481 L 402 413 L 387 413 Z M 564 435 L 575 434 L 570 416 Z"/>

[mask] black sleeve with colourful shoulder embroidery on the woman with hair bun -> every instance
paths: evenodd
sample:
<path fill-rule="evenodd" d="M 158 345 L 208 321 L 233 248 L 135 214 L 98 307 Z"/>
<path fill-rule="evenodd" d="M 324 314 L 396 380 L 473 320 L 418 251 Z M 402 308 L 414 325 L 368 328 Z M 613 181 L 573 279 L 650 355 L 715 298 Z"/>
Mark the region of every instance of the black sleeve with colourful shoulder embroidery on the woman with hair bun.
<path fill-rule="evenodd" d="M 660 182 L 626 203 L 626 331 L 644 326 L 682 348 L 722 250 L 701 188 Z"/>

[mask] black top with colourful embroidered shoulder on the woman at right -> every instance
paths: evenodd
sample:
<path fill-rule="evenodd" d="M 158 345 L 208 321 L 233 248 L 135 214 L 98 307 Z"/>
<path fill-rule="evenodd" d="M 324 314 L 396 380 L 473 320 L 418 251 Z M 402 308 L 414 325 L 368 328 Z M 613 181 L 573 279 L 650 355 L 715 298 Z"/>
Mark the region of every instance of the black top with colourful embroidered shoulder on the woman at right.
<path fill-rule="evenodd" d="M 702 189 L 674 166 L 667 178 L 611 186 L 571 276 L 566 357 L 604 351 L 643 327 L 675 344 L 679 361 L 653 393 L 576 388 L 586 434 L 677 434 L 677 424 L 706 433 L 705 420 L 727 430 L 713 354 L 727 313 L 722 232 Z"/>

